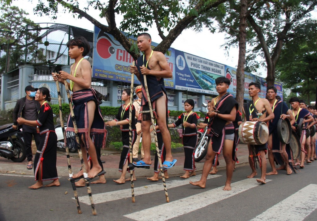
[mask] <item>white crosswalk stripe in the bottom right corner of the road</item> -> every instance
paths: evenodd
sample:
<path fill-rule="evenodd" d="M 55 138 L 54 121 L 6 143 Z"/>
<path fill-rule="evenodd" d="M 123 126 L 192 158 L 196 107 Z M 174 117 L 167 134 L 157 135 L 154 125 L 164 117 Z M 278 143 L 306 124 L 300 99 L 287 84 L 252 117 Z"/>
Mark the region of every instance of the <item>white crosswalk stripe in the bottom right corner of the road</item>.
<path fill-rule="evenodd" d="M 317 185 L 309 184 L 285 200 L 262 212 L 250 221 L 304 220 L 317 208 Z"/>

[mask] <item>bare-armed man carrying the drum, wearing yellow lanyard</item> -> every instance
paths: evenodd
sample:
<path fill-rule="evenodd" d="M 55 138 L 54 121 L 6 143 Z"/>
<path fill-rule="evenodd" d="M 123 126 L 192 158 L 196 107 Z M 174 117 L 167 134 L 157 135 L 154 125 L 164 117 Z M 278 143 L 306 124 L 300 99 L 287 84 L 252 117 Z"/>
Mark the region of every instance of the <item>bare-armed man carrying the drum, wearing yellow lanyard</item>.
<path fill-rule="evenodd" d="M 249 95 L 252 101 L 243 105 L 243 114 L 246 121 L 262 121 L 267 122 L 274 118 L 274 113 L 270 106 L 270 103 L 265 98 L 259 98 L 259 93 L 261 91 L 261 86 L 259 83 L 251 82 L 249 83 Z M 256 179 L 257 182 L 265 184 L 266 175 L 266 157 L 267 144 L 262 145 L 249 145 L 249 164 L 252 169 L 252 173 L 247 176 L 248 178 L 253 178 L 257 175 L 256 167 L 253 162 L 253 150 L 259 159 L 261 167 L 261 178 Z"/>

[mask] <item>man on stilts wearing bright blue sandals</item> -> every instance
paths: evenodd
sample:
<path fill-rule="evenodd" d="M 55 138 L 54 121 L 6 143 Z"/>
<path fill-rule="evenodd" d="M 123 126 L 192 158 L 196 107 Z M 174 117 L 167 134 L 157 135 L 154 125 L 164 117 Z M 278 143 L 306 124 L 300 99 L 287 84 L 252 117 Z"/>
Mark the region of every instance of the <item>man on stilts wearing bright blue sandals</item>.
<path fill-rule="evenodd" d="M 166 157 L 163 163 L 165 168 L 170 168 L 175 164 L 171 154 L 171 134 L 167 128 L 167 96 L 164 85 L 164 78 L 172 77 L 172 71 L 163 53 L 155 52 L 151 47 L 151 36 L 147 33 L 138 35 L 137 44 L 139 50 L 144 54 L 138 58 L 136 66 L 130 65 L 130 73 L 135 74 L 142 84 L 142 102 L 141 110 L 149 110 L 148 97 L 146 95 L 144 85 L 144 75 L 146 76 L 147 86 L 151 98 L 154 118 L 156 117 L 159 130 L 163 136 L 165 144 Z M 155 112 L 154 112 L 155 110 Z M 150 146 L 151 146 L 151 116 L 150 113 L 142 113 L 141 129 L 142 129 L 142 143 L 144 148 L 144 159 L 135 162 L 134 165 L 143 166 L 151 165 Z"/>

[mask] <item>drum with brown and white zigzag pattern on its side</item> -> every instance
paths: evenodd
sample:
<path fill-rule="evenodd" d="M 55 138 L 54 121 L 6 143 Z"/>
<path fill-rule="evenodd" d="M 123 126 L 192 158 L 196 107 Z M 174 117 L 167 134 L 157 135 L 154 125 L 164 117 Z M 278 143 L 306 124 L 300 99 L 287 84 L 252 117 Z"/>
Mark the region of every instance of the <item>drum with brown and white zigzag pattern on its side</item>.
<path fill-rule="evenodd" d="M 239 126 L 239 138 L 245 144 L 265 144 L 268 142 L 268 126 L 261 121 L 245 121 Z"/>

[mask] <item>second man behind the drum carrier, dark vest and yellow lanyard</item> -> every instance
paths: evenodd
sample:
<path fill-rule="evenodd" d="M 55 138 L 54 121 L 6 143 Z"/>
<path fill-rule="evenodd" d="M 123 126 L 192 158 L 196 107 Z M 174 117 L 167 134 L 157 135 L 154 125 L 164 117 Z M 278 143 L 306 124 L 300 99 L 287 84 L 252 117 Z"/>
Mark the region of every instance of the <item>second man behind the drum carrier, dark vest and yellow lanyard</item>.
<path fill-rule="evenodd" d="M 303 126 L 303 130 L 301 131 L 301 134 L 299 135 L 299 137 L 300 137 L 300 143 L 301 143 L 300 168 L 304 168 L 305 167 L 304 166 L 305 155 L 307 154 L 307 150 L 305 150 L 305 143 L 307 143 L 306 130 L 304 128 L 306 128 L 306 124 L 308 122 L 312 122 L 314 119 L 306 109 L 299 107 L 299 99 L 297 97 L 292 97 L 291 99 L 289 99 L 289 103 L 291 104 L 292 114 L 295 118 L 295 123 L 292 125 L 292 129 L 294 131 L 297 131 L 299 129 L 298 126 L 299 126 L 300 120 L 303 119 L 302 124 L 304 126 Z M 310 125 L 307 126 L 307 129 L 309 129 L 309 127 L 310 127 Z M 310 139 L 309 139 L 309 146 L 310 146 Z M 296 159 L 295 165 L 299 165 L 298 159 Z"/>

